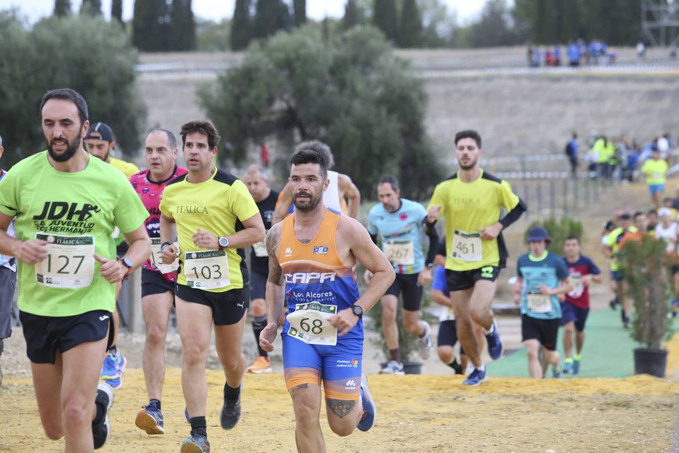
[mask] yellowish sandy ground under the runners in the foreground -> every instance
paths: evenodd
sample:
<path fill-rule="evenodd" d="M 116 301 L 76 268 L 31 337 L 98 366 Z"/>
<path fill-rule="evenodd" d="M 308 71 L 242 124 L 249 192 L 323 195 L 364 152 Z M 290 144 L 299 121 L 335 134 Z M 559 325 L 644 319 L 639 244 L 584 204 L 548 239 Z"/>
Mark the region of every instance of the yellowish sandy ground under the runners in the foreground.
<path fill-rule="evenodd" d="M 15 335 L 9 342 L 12 356 L 22 352 L 20 330 Z M 668 374 L 677 376 L 679 336 L 668 348 L 674 351 Z M 166 434 L 148 436 L 134 427 L 134 416 L 147 401 L 143 373 L 128 369 L 111 410 L 113 434 L 100 451 L 127 451 L 130 446 L 143 452 L 177 451 L 189 431 L 183 420 L 180 375 L 176 367 L 166 374 Z M 475 388 L 462 387 L 461 381 L 457 376 L 369 376 L 378 404 L 375 426 L 368 433 L 356 431 L 342 438 L 330 431 L 322 417 L 328 451 L 676 451 L 676 380 L 650 376 L 543 381 L 492 378 Z M 282 374 L 245 376 L 242 420 L 228 433 L 221 430 L 218 420 L 223 382 L 221 372 L 208 371 L 208 436 L 214 451 L 295 450 L 295 423 Z M 27 374 L 5 368 L 0 407 L 0 451 L 63 450 L 62 441 L 49 441 L 43 435 Z"/>

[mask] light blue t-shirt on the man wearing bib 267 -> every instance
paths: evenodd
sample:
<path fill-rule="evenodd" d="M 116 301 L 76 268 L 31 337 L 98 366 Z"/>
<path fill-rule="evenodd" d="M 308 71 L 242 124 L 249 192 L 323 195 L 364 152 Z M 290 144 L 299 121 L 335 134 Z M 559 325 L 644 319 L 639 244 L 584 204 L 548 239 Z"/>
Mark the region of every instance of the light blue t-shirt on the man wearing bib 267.
<path fill-rule="evenodd" d="M 382 203 L 375 204 L 368 213 L 368 232 L 382 236 L 382 251 L 397 274 L 419 274 L 424 269 L 424 217 L 424 206 L 405 198 L 401 198 L 401 207 L 394 213 L 385 211 Z"/>

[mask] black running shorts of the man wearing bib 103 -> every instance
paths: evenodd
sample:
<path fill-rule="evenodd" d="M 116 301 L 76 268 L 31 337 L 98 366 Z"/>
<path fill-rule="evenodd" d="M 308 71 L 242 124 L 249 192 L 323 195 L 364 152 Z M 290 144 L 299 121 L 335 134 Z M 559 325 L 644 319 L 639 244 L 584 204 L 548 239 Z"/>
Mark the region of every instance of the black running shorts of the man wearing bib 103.
<path fill-rule="evenodd" d="M 245 316 L 250 306 L 250 291 L 247 287 L 213 293 L 177 284 L 175 295 L 186 302 L 194 302 L 194 304 L 202 304 L 212 308 L 215 325 L 238 323 Z"/>

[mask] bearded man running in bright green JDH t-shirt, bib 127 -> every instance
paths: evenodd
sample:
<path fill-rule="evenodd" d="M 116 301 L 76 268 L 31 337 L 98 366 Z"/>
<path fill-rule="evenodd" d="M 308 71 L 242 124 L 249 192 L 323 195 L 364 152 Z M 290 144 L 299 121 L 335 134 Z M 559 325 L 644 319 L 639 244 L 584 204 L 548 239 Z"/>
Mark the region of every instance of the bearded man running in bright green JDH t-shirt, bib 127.
<path fill-rule="evenodd" d="M 48 92 L 40 115 L 47 151 L 0 181 L 0 253 L 18 259 L 20 319 L 45 434 L 65 437 L 68 452 L 91 452 L 110 431 L 113 388 L 97 383 L 114 285 L 151 253 L 148 213 L 125 176 L 82 146 L 89 122 L 80 94 Z M 120 260 L 116 227 L 130 244 Z"/>

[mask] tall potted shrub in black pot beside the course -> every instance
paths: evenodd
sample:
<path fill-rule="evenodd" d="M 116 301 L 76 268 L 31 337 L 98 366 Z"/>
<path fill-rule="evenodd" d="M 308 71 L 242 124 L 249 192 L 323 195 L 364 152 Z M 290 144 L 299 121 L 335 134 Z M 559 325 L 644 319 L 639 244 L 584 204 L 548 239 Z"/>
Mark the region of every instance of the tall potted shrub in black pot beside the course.
<path fill-rule="evenodd" d="M 665 377 L 667 312 L 671 298 L 665 241 L 648 235 L 625 241 L 618 259 L 625 272 L 627 295 L 634 301 L 631 336 L 646 346 L 634 350 L 634 373 Z"/>

